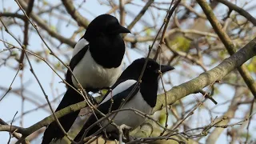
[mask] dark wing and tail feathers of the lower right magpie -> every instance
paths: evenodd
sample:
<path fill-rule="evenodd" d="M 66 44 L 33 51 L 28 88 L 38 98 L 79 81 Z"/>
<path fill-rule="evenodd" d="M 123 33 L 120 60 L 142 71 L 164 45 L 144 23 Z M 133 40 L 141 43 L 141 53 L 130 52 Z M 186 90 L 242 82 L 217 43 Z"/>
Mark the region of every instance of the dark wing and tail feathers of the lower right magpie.
<path fill-rule="evenodd" d="M 126 99 L 129 96 L 129 94 L 130 94 L 130 98 L 127 100 L 127 102 L 129 102 L 130 99 L 133 98 L 134 95 L 138 93 L 139 86 L 135 88 L 133 93 L 131 93 L 132 90 L 134 89 L 134 86 L 136 86 L 136 83 L 133 86 L 130 86 L 127 90 L 124 90 L 122 93 L 119 93 L 113 96 L 114 103 L 112 104 L 111 111 L 118 110 L 119 106 L 123 102 L 123 99 Z M 100 110 L 103 114 L 107 114 L 109 112 L 110 106 L 111 106 L 111 100 L 108 100 L 102 103 L 100 106 L 98 106 L 98 110 Z M 100 114 L 96 113 L 96 115 L 98 119 L 102 118 Z M 90 115 L 90 118 L 88 118 L 85 125 L 82 126 L 82 130 L 80 130 L 78 135 L 74 138 L 74 142 L 78 142 L 82 138 L 82 135 L 84 134 L 86 128 L 94 124 L 94 122 L 97 122 L 97 118 L 94 116 L 94 114 Z M 96 125 L 92 129 L 90 129 L 86 135 L 90 136 L 91 134 L 94 134 L 99 129 L 100 127 Z"/>

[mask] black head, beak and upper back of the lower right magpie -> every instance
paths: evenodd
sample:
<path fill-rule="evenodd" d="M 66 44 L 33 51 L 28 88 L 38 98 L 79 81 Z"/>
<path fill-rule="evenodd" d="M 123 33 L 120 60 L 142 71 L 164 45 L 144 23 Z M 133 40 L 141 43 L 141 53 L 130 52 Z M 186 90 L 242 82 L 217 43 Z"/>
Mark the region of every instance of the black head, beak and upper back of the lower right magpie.
<path fill-rule="evenodd" d="M 122 73 L 120 78 L 132 78 L 138 80 L 145 62 L 146 58 L 136 59 L 134 62 L 130 64 L 130 66 L 126 68 L 126 70 Z M 142 82 L 157 81 L 158 76 L 160 74 L 159 70 L 161 70 L 163 74 L 167 71 L 174 70 L 174 67 L 159 65 L 158 62 L 155 62 L 153 59 L 149 58 L 146 64 L 146 69 L 142 76 Z"/>

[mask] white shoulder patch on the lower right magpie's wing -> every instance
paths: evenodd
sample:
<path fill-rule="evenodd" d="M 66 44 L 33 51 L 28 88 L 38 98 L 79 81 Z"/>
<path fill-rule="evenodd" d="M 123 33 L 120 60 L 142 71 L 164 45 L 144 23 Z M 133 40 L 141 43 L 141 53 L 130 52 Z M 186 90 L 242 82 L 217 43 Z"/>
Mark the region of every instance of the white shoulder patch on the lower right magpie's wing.
<path fill-rule="evenodd" d="M 112 90 L 112 97 L 114 97 L 116 94 L 121 93 L 124 90 L 127 90 L 130 86 L 133 86 L 136 82 L 137 81 L 135 81 L 134 79 L 128 79 L 125 82 L 120 83 L 118 86 L 114 88 L 114 90 Z M 110 100 L 110 98 L 111 98 L 111 93 L 108 94 L 106 98 L 99 105 Z"/>

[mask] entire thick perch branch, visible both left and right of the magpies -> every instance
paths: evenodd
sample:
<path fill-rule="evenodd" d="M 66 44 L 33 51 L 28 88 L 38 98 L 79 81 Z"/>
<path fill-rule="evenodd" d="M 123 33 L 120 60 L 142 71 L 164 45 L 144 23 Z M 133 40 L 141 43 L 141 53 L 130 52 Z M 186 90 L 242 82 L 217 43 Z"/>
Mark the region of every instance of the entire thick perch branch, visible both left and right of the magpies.
<path fill-rule="evenodd" d="M 230 56 L 230 58 L 226 58 L 226 60 L 224 60 L 214 69 L 200 74 L 197 78 L 194 78 L 189 82 L 185 82 L 179 86 L 174 86 L 171 90 L 169 90 L 166 93 L 167 105 L 170 105 L 176 102 L 177 100 L 185 97 L 188 94 L 194 94 L 198 90 L 202 90 L 202 88 L 210 85 L 211 83 L 217 80 L 221 80 L 224 76 L 226 76 L 226 74 L 229 74 L 230 71 L 234 70 L 238 66 L 241 66 L 242 63 L 254 57 L 254 55 L 256 55 L 256 38 L 254 38 L 251 42 L 249 42 L 236 54 L 233 54 L 232 56 Z M 98 98 L 98 101 L 100 101 L 100 98 Z M 158 95 L 158 102 L 154 108 L 154 112 L 156 110 L 160 110 L 162 105 L 165 105 L 165 103 L 166 103 L 165 94 Z M 55 115 L 57 118 L 61 118 L 66 114 L 70 114 L 73 111 L 81 110 L 86 106 L 87 106 L 86 102 L 79 102 L 77 104 L 68 106 L 62 110 L 59 110 L 58 112 L 55 113 Z M 17 129 L 16 132 L 23 134 L 22 137 L 26 137 L 34 133 L 34 131 L 39 130 L 43 126 L 48 126 L 51 122 L 54 122 L 53 115 L 50 115 L 49 117 L 44 118 L 42 121 L 28 128 L 12 126 L 12 130 Z M 9 131 L 9 130 L 10 130 L 10 126 L 5 126 L 5 125 L 0 126 L 0 131 Z"/>

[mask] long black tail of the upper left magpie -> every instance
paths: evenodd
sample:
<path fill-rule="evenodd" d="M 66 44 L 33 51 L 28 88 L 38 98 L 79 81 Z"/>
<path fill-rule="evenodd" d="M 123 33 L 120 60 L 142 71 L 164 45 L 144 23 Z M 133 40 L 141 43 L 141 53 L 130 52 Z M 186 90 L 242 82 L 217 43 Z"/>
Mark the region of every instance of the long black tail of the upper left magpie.
<path fill-rule="evenodd" d="M 66 106 L 70 106 L 74 103 L 82 102 L 83 98 L 78 92 L 75 90 L 68 88 L 66 90 L 66 94 L 62 98 L 62 102 L 58 105 L 57 110 L 62 110 Z M 62 124 L 62 127 L 66 132 L 70 130 L 70 127 L 73 125 L 75 119 L 78 117 L 80 110 L 67 114 L 66 116 L 62 118 L 58 118 L 58 121 Z M 62 133 L 62 130 L 58 127 L 57 122 L 51 122 L 50 125 L 46 128 L 46 131 L 42 138 L 42 144 L 49 144 L 53 140 L 58 140 L 60 138 L 63 138 L 64 134 Z"/>

